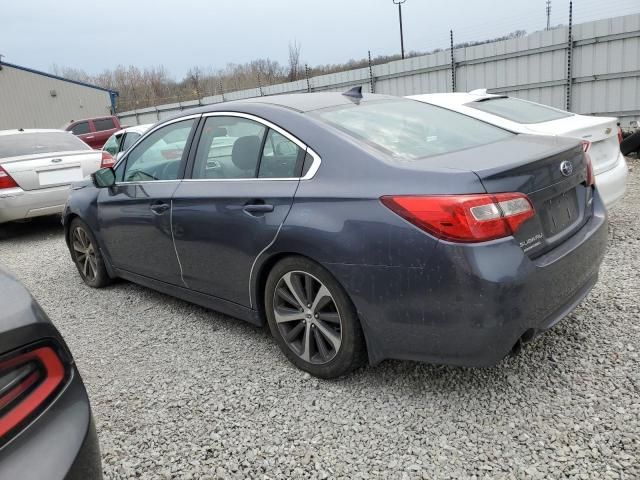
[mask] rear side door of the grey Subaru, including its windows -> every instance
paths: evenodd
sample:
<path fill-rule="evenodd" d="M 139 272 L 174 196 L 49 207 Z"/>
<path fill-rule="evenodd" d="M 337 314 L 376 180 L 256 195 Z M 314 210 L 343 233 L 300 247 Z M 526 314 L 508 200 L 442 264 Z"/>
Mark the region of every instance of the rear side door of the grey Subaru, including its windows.
<path fill-rule="evenodd" d="M 251 307 L 254 262 L 291 209 L 306 147 L 251 115 L 206 117 L 173 197 L 176 251 L 189 288 Z"/>

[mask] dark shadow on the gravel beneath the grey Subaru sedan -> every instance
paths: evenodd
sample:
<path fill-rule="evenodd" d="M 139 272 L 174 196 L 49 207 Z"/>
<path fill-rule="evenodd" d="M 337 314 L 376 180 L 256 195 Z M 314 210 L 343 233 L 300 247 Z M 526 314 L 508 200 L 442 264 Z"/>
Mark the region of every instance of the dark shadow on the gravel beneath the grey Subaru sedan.
<path fill-rule="evenodd" d="M 145 310 L 162 305 L 170 310 L 182 311 L 190 321 L 201 324 L 203 331 L 214 333 L 224 329 L 232 335 L 245 337 L 251 344 L 259 342 L 264 345 L 261 354 L 268 355 L 264 362 L 271 363 L 273 368 L 283 369 L 285 375 L 305 379 L 299 384 L 301 394 L 307 389 L 316 389 L 317 384 L 327 388 L 356 389 L 360 395 L 364 392 L 374 394 L 380 391 L 393 390 L 395 396 L 415 397 L 424 395 L 464 396 L 472 389 L 478 398 L 490 399 L 496 392 L 504 394 L 516 389 L 536 389 L 539 385 L 545 388 L 561 387 L 566 378 L 562 374 L 571 370 L 579 357 L 564 355 L 566 347 L 578 341 L 581 330 L 573 315 L 565 319 L 564 324 L 543 333 L 533 342 L 525 345 L 518 354 L 507 356 L 497 365 L 486 368 L 469 368 L 448 365 L 435 365 L 414 361 L 385 360 L 371 366 L 363 366 L 344 377 L 323 380 L 306 375 L 294 367 L 277 348 L 267 325 L 262 327 L 249 324 L 243 320 L 200 307 L 181 299 L 157 292 L 127 281 L 116 282 L 113 288 L 122 292 L 137 290 L 145 297 Z M 241 352 L 237 352 L 241 354 Z M 284 373 L 284 372 L 283 372 Z"/>

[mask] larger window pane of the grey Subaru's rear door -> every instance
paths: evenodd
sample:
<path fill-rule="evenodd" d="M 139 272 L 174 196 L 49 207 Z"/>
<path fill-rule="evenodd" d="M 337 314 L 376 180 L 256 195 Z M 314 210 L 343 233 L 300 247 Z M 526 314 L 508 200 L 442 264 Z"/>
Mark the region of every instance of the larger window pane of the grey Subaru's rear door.
<path fill-rule="evenodd" d="M 246 118 L 207 118 L 192 178 L 255 178 L 266 133 L 266 126 Z"/>

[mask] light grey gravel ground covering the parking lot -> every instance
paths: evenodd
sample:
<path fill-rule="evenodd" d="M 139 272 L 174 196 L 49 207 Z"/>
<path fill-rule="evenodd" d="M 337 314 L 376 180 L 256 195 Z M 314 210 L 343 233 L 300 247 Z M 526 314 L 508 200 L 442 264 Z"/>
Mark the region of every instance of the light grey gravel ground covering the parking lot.
<path fill-rule="evenodd" d="M 85 287 L 56 219 L 0 227 L 0 262 L 75 355 L 106 478 L 637 479 L 640 163 L 631 166 L 598 285 L 491 369 L 384 362 L 311 378 L 239 320 L 126 282 Z"/>

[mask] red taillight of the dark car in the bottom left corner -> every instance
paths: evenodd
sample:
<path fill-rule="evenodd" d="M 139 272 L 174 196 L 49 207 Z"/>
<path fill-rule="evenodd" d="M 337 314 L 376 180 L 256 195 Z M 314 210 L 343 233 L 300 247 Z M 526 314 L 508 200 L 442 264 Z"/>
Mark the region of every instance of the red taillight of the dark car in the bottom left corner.
<path fill-rule="evenodd" d="M 64 378 L 64 365 L 49 346 L 0 361 L 0 442 L 46 406 Z"/>

